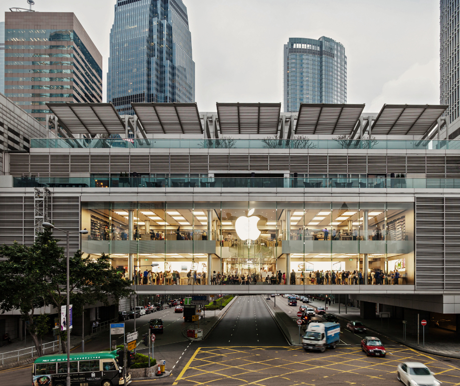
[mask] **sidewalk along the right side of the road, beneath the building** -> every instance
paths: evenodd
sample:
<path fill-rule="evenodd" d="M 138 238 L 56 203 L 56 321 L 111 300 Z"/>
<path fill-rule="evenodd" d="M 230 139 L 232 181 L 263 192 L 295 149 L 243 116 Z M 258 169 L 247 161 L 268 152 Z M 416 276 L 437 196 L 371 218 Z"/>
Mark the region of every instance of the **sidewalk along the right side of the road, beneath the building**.
<path fill-rule="evenodd" d="M 315 306 L 324 306 L 323 302 L 312 302 Z M 337 305 L 331 305 L 327 312 L 335 314 L 345 320 L 357 320 L 365 324 L 366 327 L 377 336 L 384 336 L 397 343 L 404 344 L 414 350 L 427 354 L 440 355 L 449 358 L 460 359 L 460 339 L 455 331 L 444 330 L 436 327 L 425 328 L 425 348 L 423 348 L 423 329 L 420 326 L 419 344 L 417 345 L 417 335 L 407 334 L 406 340 L 403 337 L 403 324 L 401 320 L 363 319 L 359 309 L 348 307 L 345 314 L 345 306 L 341 304 L 340 314 Z"/>

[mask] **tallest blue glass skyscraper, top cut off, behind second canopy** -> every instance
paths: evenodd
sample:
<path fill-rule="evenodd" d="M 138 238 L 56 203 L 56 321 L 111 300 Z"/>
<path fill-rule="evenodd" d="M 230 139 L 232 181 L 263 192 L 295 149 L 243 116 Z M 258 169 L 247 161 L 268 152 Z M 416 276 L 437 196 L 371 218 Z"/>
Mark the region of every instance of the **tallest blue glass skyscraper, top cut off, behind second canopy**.
<path fill-rule="evenodd" d="M 107 101 L 194 102 L 195 62 L 182 0 L 117 0 L 110 31 Z"/>

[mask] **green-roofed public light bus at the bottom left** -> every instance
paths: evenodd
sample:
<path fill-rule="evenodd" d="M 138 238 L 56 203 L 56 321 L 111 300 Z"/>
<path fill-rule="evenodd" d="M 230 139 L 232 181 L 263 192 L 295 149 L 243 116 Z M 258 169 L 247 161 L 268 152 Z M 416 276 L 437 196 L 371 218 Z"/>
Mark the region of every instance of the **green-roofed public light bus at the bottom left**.
<path fill-rule="evenodd" d="M 131 375 L 116 363 L 117 350 L 70 354 L 71 386 L 115 386 L 130 384 Z M 45 355 L 32 366 L 33 386 L 66 386 L 67 354 Z"/>

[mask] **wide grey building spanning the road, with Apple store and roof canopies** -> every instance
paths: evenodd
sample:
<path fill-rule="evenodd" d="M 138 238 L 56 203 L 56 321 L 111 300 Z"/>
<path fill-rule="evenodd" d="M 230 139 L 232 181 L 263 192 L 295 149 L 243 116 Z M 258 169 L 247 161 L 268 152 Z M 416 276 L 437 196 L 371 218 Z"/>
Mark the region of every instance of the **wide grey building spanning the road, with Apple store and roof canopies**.
<path fill-rule="evenodd" d="M 415 312 L 457 325 L 460 145 L 422 140 L 446 105 L 131 106 L 136 119 L 125 122 L 109 103 L 47 104 L 59 130 L 93 139 L 32 139 L 29 151 L 5 153 L 3 242 L 33 241 L 35 202 L 48 221 L 90 230 L 71 237 L 71 251 L 110 253 L 128 277 L 158 263 L 157 285 L 140 295 L 347 293 L 366 315 L 379 304 L 413 327 Z M 49 193 L 46 204 L 36 192 Z M 226 286 L 210 285 L 213 271 Z M 273 285 L 277 271 L 286 285 Z M 343 271 L 362 276 L 344 286 Z M 231 275 L 259 284 L 232 285 Z"/>

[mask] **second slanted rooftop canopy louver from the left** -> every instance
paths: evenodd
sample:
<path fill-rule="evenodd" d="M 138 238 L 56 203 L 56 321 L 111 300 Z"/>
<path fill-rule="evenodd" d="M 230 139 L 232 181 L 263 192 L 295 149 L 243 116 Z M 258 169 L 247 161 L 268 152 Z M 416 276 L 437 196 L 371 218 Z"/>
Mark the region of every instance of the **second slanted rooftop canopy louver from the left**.
<path fill-rule="evenodd" d="M 131 103 L 147 134 L 203 134 L 196 103 Z"/>

